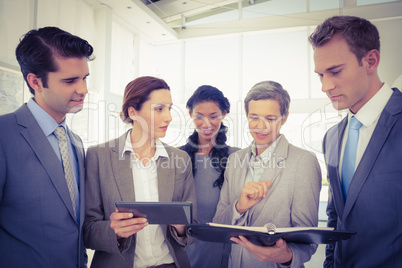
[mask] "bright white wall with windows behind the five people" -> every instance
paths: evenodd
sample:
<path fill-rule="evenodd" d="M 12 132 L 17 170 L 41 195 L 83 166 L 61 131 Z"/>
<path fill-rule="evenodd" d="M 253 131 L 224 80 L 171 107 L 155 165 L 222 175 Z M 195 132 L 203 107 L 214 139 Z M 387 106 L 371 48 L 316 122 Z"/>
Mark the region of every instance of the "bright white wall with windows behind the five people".
<path fill-rule="evenodd" d="M 399 34 L 402 17 L 373 22 L 380 31 L 382 43 L 379 74 L 383 81 L 393 84 L 402 74 L 402 35 Z M 162 45 L 168 48 L 166 53 L 160 49 L 161 44 L 155 46 L 136 32 L 111 7 L 94 0 L 0 0 L 0 67 L 18 72 L 14 55 L 18 39 L 31 28 L 48 25 L 87 39 L 95 49 L 96 59 L 90 63 L 88 103 L 82 112 L 69 116 L 70 125 L 82 136 L 86 146 L 117 137 L 124 131 L 126 125 L 118 114 L 125 85 L 135 77 L 154 75 L 171 86 L 173 101 L 179 107 L 177 117 L 185 117 L 184 123 L 172 123 L 172 135 L 184 135 L 180 140 L 168 139 L 173 143 L 183 143 L 191 131 L 184 109 L 187 98 L 198 85 L 210 83 L 222 89 L 232 102 L 229 123 L 237 130 L 231 134 L 231 142 L 244 147 L 247 135 L 243 133 L 242 99 L 253 83 L 272 79 L 291 93 L 291 118 L 284 128 L 286 135 L 307 149 L 320 148 L 318 140 L 314 144 L 305 142 L 306 128 L 308 133 L 316 132 L 311 130 L 314 113 L 319 110 L 321 118 L 325 117 L 322 111 L 328 110 L 329 103 L 312 73 L 311 48 L 306 40 L 314 27 L 178 40 Z M 292 43 L 292 38 L 298 41 Z M 194 49 L 199 50 L 198 55 Z M 252 57 L 256 58 L 256 64 L 250 60 Z M 201 62 L 205 65 L 209 62 L 210 67 L 201 67 Z M 24 90 L 24 101 L 30 97 L 27 92 Z M 334 120 L 339 118 L 329 121 L 334 123 Z"/>

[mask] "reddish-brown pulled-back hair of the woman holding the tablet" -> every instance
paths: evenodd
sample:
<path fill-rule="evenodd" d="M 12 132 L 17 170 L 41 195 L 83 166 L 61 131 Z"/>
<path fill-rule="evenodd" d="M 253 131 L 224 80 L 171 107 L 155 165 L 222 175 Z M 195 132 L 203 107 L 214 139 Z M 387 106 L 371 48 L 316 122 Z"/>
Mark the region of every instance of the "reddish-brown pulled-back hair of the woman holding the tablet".
<path fill-rule="evenodd" d="M 120 113 L 123 122 L 133 123 L 128 114 L 128 108 L 141 110 L 144 102 L 149 100 L 151 92 L 159 89 L 170 90 L 170 87 L 164 80 L 152 76 L 141 76 L 128 83 L 124 89 L 123 106 Z"/>

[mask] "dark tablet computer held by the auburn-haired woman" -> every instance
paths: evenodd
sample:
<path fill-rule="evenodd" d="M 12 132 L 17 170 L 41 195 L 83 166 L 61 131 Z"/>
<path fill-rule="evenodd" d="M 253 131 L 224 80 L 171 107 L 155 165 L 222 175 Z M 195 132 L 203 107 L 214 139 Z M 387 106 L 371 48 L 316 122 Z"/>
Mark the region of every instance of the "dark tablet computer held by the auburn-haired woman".
<path fill-rule="evenodd" d="M 147 218 L 149 224 L 192 224 L 191 202 L 116 202 L 119 212 L 131 212 L 134 218 Z"/>

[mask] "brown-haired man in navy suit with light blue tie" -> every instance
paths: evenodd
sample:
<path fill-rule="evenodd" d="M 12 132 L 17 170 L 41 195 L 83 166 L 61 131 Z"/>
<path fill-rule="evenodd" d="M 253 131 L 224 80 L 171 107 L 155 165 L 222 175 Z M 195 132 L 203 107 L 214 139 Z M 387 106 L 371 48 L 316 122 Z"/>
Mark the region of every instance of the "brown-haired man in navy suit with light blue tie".
<path fill-rule="evenodd" d="M 402 267 L 402 94 L 378 77 L 378 30 L 336 16 L 309 40 L 322 91 L 348 109 L 324 137 L 328 226 L 357 232 L 327 245 L 324 267 Z"/>

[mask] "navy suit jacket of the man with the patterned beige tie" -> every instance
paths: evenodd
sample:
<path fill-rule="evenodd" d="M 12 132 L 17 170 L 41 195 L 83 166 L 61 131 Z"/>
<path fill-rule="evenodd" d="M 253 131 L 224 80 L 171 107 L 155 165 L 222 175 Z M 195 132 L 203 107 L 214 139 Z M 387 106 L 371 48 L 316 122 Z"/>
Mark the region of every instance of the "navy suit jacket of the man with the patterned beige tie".
<path fill-rule="evenodd" d="M 62 163 L 27 105 L 0 116 L 1 267 L 86 267 L 84 150 L 77 135 L 70 138 L 81 177 L 79 223 Z"/>

